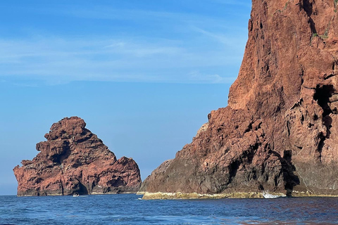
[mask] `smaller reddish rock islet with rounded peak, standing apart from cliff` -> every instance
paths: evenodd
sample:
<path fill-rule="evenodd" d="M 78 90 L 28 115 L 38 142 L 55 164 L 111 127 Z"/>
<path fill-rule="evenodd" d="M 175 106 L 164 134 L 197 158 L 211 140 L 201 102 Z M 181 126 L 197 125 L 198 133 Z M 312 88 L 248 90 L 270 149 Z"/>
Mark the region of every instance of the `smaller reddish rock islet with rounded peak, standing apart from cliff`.
<path fill-rule="evenodd" d="M 47 141 L 37 143 L 40 153 L 13 169 L 18 195 L 138 191 L 141 176 L 136 162 L 125 157 L 116 160 L 85 126 L 79 117 L 64 118 L 51 126 Z"/>

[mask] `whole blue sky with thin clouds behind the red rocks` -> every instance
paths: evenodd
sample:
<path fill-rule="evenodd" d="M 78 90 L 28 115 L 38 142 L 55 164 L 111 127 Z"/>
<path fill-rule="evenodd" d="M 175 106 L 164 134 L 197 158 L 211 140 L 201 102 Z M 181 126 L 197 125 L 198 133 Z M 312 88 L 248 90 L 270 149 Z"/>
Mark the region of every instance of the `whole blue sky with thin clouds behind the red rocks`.
<path fill-rule="evenodd" d="M 1 1 L 0 195 L 53 122 L 77 115 L 142 179 L 227 105 L 251 1 Z"/>

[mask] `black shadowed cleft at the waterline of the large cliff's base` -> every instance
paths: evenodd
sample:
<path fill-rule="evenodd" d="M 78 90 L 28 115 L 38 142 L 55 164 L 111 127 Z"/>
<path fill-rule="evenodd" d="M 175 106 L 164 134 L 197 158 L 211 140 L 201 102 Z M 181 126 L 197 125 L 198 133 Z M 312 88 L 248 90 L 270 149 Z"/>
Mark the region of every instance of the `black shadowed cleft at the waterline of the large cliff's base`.
<path fill-rule="evenodd" d="M 277 156 L 282 165 L 283 179 L 284 179 L 284 188 L 287 191 L 287 196 L 292 195 L 294 186 L 300 184 L 299 177 L 294 174 L 296 167 L 292 165 L 292 150 L 284 150 L 283 157 L 274 150 L 271 150 L 271 153 Z"/>

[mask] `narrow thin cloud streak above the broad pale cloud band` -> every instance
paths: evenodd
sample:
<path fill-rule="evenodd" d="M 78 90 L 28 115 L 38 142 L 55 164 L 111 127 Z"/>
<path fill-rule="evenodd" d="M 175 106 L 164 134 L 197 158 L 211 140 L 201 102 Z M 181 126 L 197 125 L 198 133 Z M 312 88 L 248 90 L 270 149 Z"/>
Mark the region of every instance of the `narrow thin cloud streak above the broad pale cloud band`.
<path fill-rule="evenodd" d="M 212 0 L 219 4 L 239 5 L 247 6 L 242 2 L 237 1 L 223 2 L 218 0 Z M 249 7 L 251 5 L 249 4 Z M 72 6 L 64 8 L 63 10 L 54 10 L 53 8 L 32 9 L 32 11 L 38 11 L 41 14 L 54 14 L 61 16 L 70 16 L 74 18 L 85 18 L 91 20 L 116 20 L 116 21 L 130 21 L 134 23 L 151 24 L 155 27 L 171 27 L 171 29 L 179 29 L 177 32 L 184 32 L 185 29 L 191 25 L 199 27 L 223 27 L 227 30 L 243 30 L 243 27 L 239 27 L 236 21 L 232 21 L 232 24 L 228 23 L 228 20 L 223 16 L 210 16 L 201 15 L 196 13 L 180 13 L 172 11 L 151 11 L 142 9 L 125 9 L 114 8 L 112 6 L 94 6 L 93 8 L 82 8 L 82 6 Z M 234 11 L 232 8 L 225 8 L 224 14 L 235 18 L 246 17 L 246 14 L 242 14 L 239 11 Z M 181 28 L 180 28 L 181 27 Z M 170 29 L 170 30 L 171 30 Z"/>

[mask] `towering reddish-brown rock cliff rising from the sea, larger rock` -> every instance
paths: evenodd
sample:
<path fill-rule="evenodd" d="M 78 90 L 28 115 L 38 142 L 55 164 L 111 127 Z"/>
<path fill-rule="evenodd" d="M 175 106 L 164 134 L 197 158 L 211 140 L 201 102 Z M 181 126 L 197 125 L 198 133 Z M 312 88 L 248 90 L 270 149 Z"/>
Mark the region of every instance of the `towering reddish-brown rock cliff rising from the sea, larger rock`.
<path fill-rule="evenodd" d="M 141 191 L 338 195 L 337 10 L 337 0 L 253 0 L 228 106 Z"/>

